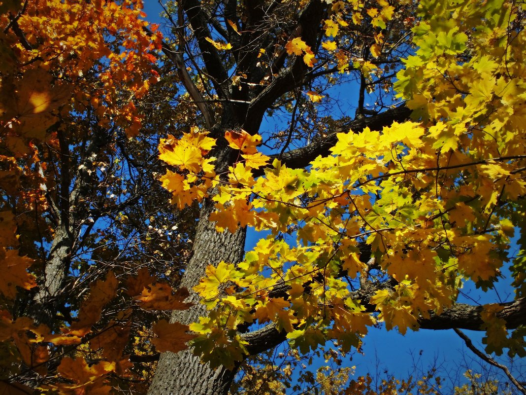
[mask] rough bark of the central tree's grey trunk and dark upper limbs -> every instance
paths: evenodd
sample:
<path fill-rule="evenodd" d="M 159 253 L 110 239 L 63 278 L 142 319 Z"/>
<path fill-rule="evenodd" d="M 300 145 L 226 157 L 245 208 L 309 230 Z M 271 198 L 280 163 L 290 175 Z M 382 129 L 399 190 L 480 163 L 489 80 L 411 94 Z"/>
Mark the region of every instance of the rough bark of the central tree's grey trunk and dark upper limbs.
<path fill-rule="evenodd" d="M 279 3 L 274 4 L 274 6 L 277 6 L 277 4 Z M 237 61 L 238 73 L 245 73 L 246 81 L 244 82 L 250 83 L 241 84 L 238 89 L 238 87 L 231 85 L 228 73 L 221 63 L 221 57 L 214 46 L 207 41 L 207 38 L 211 37 L 208 23 L 214 24 L 214 21 L 207 16 L 206 9 L 201 7 L 199 0 L 180 0 L 178 2 L 178 6 L 183 9 L 186 21 L 195 35 L 195 42 L 200 49 L 200 56 L 206 68 L 207 78 L 211 81 L 211 85 L 217 92 L 222 104 L 222 113 L 220 117 L 216 118 L 217 124 L 210 128 L 210 135 L 217 137 L 219 144 L 225 129 L 237 129 L 240 127 L 251 134 L 258 133 L 265 112 L 279 97 L 300 86 L 308 85 L 309 81 L 315 78 L 300 56 L 289 57 L 289 62 L 285 62 L 287 54 L 284 51 L 281 54 L 275 53 L 275 59 L 271 67 L 271 73 L 274 77 L 269 85 L 259 84 L 265 73 L 258 65 L 259 61 L 253 56 L 254 51 L 257 51 L 260 47 L 267 47 L 269 52 L 274 51 L 277 44 L 277 42 L 273 41 L 268 43 L 258 42 L 261 36 L 261 24 L 265 23 L 266 12 L 269 12 L 269 9 L 260 9 L 260 5 L 261 2 L 258 0 L 244 3 L 246 20 L 243 26 L 244 35 L 241 40 L 245 41 L 236 42 L 236 35 L 233 35 L 234 38 L 229 40 L 234 45 L 233 52 Z M 302 40 L 316 52 L 323 35 L 323 31 L 319 26 L 326 15 L 327 7 L 326 2 L 310 0 L 302 11 L 298 13 L 297 23 L 287 26 L 285 34 L 287 34 L 289 39 L 301 35 Z M 227 13 L 235 13 L 236 3 L 230 2 L 227 8 Z M 235 19 L 235 17 L 232 17 L 232 20 Z M 249 32 L 254 33 L 250 34 Z M 250 50 L 251 45 L 254 45 L 254 51 Z M 164 47 L 163 50 L 178 67 L 182 75 L 181 79 L 188 92 L 193 100 L 199 102 L 198 106 L 201 111 L 204 111 L 205 118 L 207 118 L 206 112 L 208 110 L 204 108 L 204 104 L 200 105 L 200 102 L 205 101 L 203 96 L 196 92 L 194 83 L 185 77 L 184 60 L 182 57 L 176 58 L 174 55 L 176 52 L 168 47 Z M 189 57 L 191 58 L 191 56 Z M 313 142 L 304 149 L 287 152 L 282 155 L 281 160 L 289 167 L 305 167 L 316 156 L 329 152 L 330 147 L 337 141 L 337 132 L 349 131 L 349 129 L 359 132 L 367 126 L 372 130 L 381 130 L 383 126 L 389 125 L 393 121 L 402 122 L 406 120 L 409 114 L 410 111 L 402 106 L 370 118 L 363 118 L 362 120 L 342 125 L 340 130 L 334 131 L 326 139 Z M 208 118 L 211 119 L 213 117 L 209 116 Z M 210 124 L 211 121 L 208 118 L 206 122 Z M 217 154 L 218 152 L 220 152 L 219 155 Z M 213 156 L 217 157 L 215 162 L 216 173 L 221 174 L 223 171 L 226 171 L 228 169 L 227 166 L 231 164 L 228 150 L 218 149 L 213 153 Z M 222 260 L 237 263 L 243 257 L 246 230 L 238 230 L 235 234 L 231 234 L 228 231 L 217 233 L 214 224 L 208 221 L 211 209 L 211 203 L 208 202 L 204 204 L 201 210 L 194 240 L 193 255 L 185 269 L 181 282 L 181 286 L 186 287 L 190 291 L 189 300 L 196 304 L 187 311 L 174 312 L 171 317 L 172 321 L 189 324 L 195 322 L 199 317 L 205 316 L 207 311 L 203 305 L 199 304 L 198 295 L 192 289 L 199 282 L 201 276 L 204 275 L 206 266 L 208 264 L 217 265 Z M 276 332 L 274 327 L 269 326 L 260 331 L 244 334 L 244 337 L 250 343 L 250 353 L 255 354 L 268 350 L 279 344 L 282 340 L 276 341 L 284 338 L 281 335 L 276 337 Z M 191 350 L 177 354 L 167 352 L 161 354 L 159 358 L 155 378 L 148 394 L 222 395 L 228 392 L 235 373 L 235 371 L 228 371 L 225 368 L 219 368 L 215 371 L 210 369 L 208 364 L 201 363 L 199 357 L 194 356 Z"/>

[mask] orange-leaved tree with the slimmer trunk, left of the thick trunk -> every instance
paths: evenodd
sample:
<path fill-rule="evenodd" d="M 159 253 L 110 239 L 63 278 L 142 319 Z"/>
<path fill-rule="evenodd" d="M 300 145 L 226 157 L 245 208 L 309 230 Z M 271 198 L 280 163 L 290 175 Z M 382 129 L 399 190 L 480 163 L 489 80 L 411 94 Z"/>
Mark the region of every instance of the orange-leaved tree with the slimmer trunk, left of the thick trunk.
<path fill-rule="evenodd" d="M 143 30 L 137 2 L 1 7 L 2 392 L 14 381 L 103 393 L 110 373 L 137 388 L 162 310 L 152 299 L 186 307 L 171 285 L 195 211 L 167 205 L 155 176 L 172 119 L 160 125 L 144 99 L 173 90 L 156 71 L 160 36 Z"/>

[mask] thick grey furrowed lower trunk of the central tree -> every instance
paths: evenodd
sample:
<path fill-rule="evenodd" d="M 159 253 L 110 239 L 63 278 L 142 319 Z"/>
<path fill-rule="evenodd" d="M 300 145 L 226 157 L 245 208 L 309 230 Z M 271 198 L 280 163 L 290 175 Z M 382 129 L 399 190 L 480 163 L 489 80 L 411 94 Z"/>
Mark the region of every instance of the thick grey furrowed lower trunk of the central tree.
<path fill-rule="evenodd" d="M 213 202 L 208 201 L 201 209 L 193 255 L 181 280 L 181 286 L 188 288 L 187 300 L 195 303 L 185 311 L 174 311 L 171 322 L 190 324 L 207 315 L 206 307 L 199 303 L 199 296 L 193 287 L 205 274 L 207 265 L 221 261 L 238 263 L 245 249 L 246 228 L 234 234 L 229 231 L 216 232 L 215 224 L 208 221 Z M 165 352 L 159 359 L 155 378 L 148 391 L 149 395 L 224 395 L 228 392 L 235 371 L 225 368 L 211 369 L 201 363 L 192 349 L 178 353 Z"/>

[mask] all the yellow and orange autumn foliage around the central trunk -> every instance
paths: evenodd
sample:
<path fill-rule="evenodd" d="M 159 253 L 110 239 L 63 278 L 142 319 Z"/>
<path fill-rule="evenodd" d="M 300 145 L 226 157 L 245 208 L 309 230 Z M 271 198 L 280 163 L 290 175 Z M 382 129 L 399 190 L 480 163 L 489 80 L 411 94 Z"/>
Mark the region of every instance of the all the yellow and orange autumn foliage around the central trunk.
<path fill-rule="evenodd" d="M 191 116 L 183 120 L 180 115 L 177 121 L 165 122 L 167 133 L 151 132 L 157 114 L 148 113 L 145 102 L 172 100 L 174 92 L 161 99 L 155 94 L 161 90 L 156 91 L 156 84 L 163 84 L 158 72 L 161 51 L 166 54 L 163 62 L 175 52 L 167 50 L 157 26 L 145 21 L 140 0 L 0 3 L 0 392 L 146 393 L 151 372 L 145 372 L 140 358 L 153 354 L 158 358 L 159 353 L 175 353 L 189 345 L 211 368 L 235 371 L 248 356 L 260 352 L 251 342 L 251 327 L 273 330 L 279 340 L 275 345 L 288 340 L 304 354 L 327 341 L 341 354 L 359 349 L 368 329 L 379 323 L 401 334 L 442 329 L 433 327 L 433 320 L 456 308 L 464 283 L 487 291 L 498 281 L 515 233 L 520 252 L 511 263 L 511 274 L 515 302 L 523 304 L 526 37 L 522 5 L 431 0 L 348 3 L 323 5 L 327 8 L 319 26 L 323 38 L 317 46 L 305 41 L 297 28 L 279 38 L 274 54 L 261 47 L 254 57 L 263 63 L 279 58 L 281 65 L 291 64 L 295 72 L 303 73 L 302 78 L 315 69 L 333 78 L 356 72 L 367 85 L 376 77 L 393 79 L 396 73 L 396 97 L 382 110 L 396 110 L 392 103 L 403 101 L 411 119 L 360 130 L 328 122 L 316 139 L 306 135 L 298 139 L 321 147 L 320 155 L 301 165 L 289 159 L 287 145 L 272 151 L 265 137 L 248 126 L 248 131 L 236 125 L 218 133 L 210 120 L 221 114 L 217 103 L 223 100 L 223 82 L 210 77 L 219 92 L 217 97 L 210 95 L 217 99 L 213 114 L 204 104 L 207 101 L 198 100 L 191 90 L 205 92 L 206 83 L 185 74 L 180 65 L 177 82 L 183 81 L 197 102 L 197 107 L 179 104 L 180 114 L 199 111 L 206 121 L 192 122 Z M 246 33 L 237 21 L 225 18 L 222 25 L 232 36 Z M 395 25 L 398 34 L 411 41 L 402 44 L 400 51 L 407 54 L 402 66 L 390 70 L 381 60 L 395 51 L 387 33 Z M 367 28 L 369 40 L 361 54 L 344 45 L 343 37 L 348 40 L 357 26 Z M 227 54 L 225 63 L 232 68 L 228 53 L 239 50 L 236 43 L 215 36 L 196 40 L 202 48 L 215 51 L 210 53 Z M 206 58 L 208 52 L 202 52 L 205 66 L 213 64 Z M 384 78 L 387 72 L 393 74 Z M 279 74 L 268 65 L 268 73 L 261 75 L 260 81 L 247 85 L 265 93 L 266 84 Z M 231 90 L 241 91 L 248 81 L 243 73 L 228 78 Z M 391 86 L 385 88 L 389 91 Z M 295 94 L 304 95 L 305 106 L 312 108 L 328 97 L 312 87 Z M 178 97 L 184 102 L 187 96 Z M 363 97 L 360 100 L 362 111 Z M 357 119 L 371 115 L 360 111 Z M 372 116 L 377 115 L 382 113 Z M 86 120 L 89 127 L 83 123 Z M 174 126 L 178 122 L 181 126 Z M 86 129 L 87 137 L 82 137 Z M 104 141 L 103 132 L 114 130 L 124 132 L 111 143 Z M 72 233 L 70 229 L 77 226 L 76 236 L 70 239 L 80 240 L 80 233 L 92 230 L 88 213 L 95 212 L 94 202 L 76 198 L 75 204 L 64 205 L 68 196 L 83 191 L 77 180 L 92 180 L 92 189 L 105 191 L 90 195 L 106 202 L 99 205 L 104 209 L 110 205 L 99 195 L 109 195 L 111 183 L 94 179 L 92 172 L 97 170 L 89 166 L 97 163 L 96 154 L 75 162 L 76 169 L 69 169 L 73 162 L 67 157 L 87 150 L 89 144 L 110 144 L 108 152 L 116 152 L 123 150 L 124 142 L 137 142 L 136 152 L 146 142 L 158 147 L 158 153 L 145 161 L 161 161 L 163 174 L 156 182 L 171 196 L 170 202 L 166 196 L 166 206 L 171 203 L 181 213 L 210 207 L 208 218 L 199 221 L 213 223 L 218 233 L 244 232 L 249 226 L 268 236 L 240 262 L 204 262 L 204 275 L 199 273 L 200 281 L 188 289 L 178 285 L 179 276 L 189 274 L 175 264 L 173 270 L 151 272 L 130 259 L 132 273 L 119 269 L 119 264 L 107 270 L 106 255 L 101 254 L 100 268 L 79 264 L 78 273 L 71 275 L 72 283 L 89 285 L 63 301 L 65 307 L 74 306 L 72 317 L 66 319 L 60 315 L 63 306 L 53 304 L 64 290 L 51 291 L 56 288 L 47 277 L 52 264 L 37 250 L 47 249 L 52 256 L 59 251 L 53 243 L 60 232 Z M 76 151 L 70 153 L 74 145 Z M 59 160 L 62 165 L 55 169 L 53 164 Z M 132 162 L 133 157 L 126 160 Z M 102 165 L 97 166 L 103 173 Z M 134 176 L 137 173 L 129 172 L 121 179 Z M 116 176 L 112 180 L 117 183 Z M 67 186 L 58 188 L 60 182 Z M 58 189 L 54 205 L 49 194 Z M 139 198 L 130 201 L 133 205 Z M 66 213 L 83 207 L 89 209 L 85 220 L 70 224 L 65 219 Z M 108 218 L 133 222 L 123 210 Z M 136 222 L 153 224 L 154 214 Z M 194 217 L 186 222 L 189 227 L 196 223 Z M 175 232 L 177 226 L 171 229 Z M 94 238 L 106 242 L 102 233 Z M 191 240 L 185 237 L 179 235 L 177 242 L 184 244 L 178 253 L 187 262 Z M 166 240 L 176 242 L 171 233 Z M 142 249 L 141 243 L 134 248 Z M 108 251 L 118 255 L 121 248 Z M 61 275 L 73 270 L 72 264 Z M 52 314 L 31 308 L 47 302 Z M 197 304 L 206 312 L 197 322 L 164 317 L 166 311 L 188 310 Z M 485 331 L 488 353 L 524 357 L 526 322 L 508 320 L 508 308 L 484 305 L 475 329 Z M 153 369 L 155 360 L 148 360 L 148 369 Z M 349 374 L 341 379 L 341 386 L 348 379 Z M 325 380 L 320 376 L 318 381 Z M 385 385 L 382 393 L 386 394 L 397 386 L 414 387 L 394 380 Z M 347 394 L 372 391 L 369 377 L 344 387 L 341 390 Z M 432 387 L 419 384 L 418 388 L 432 393 Z"/>

